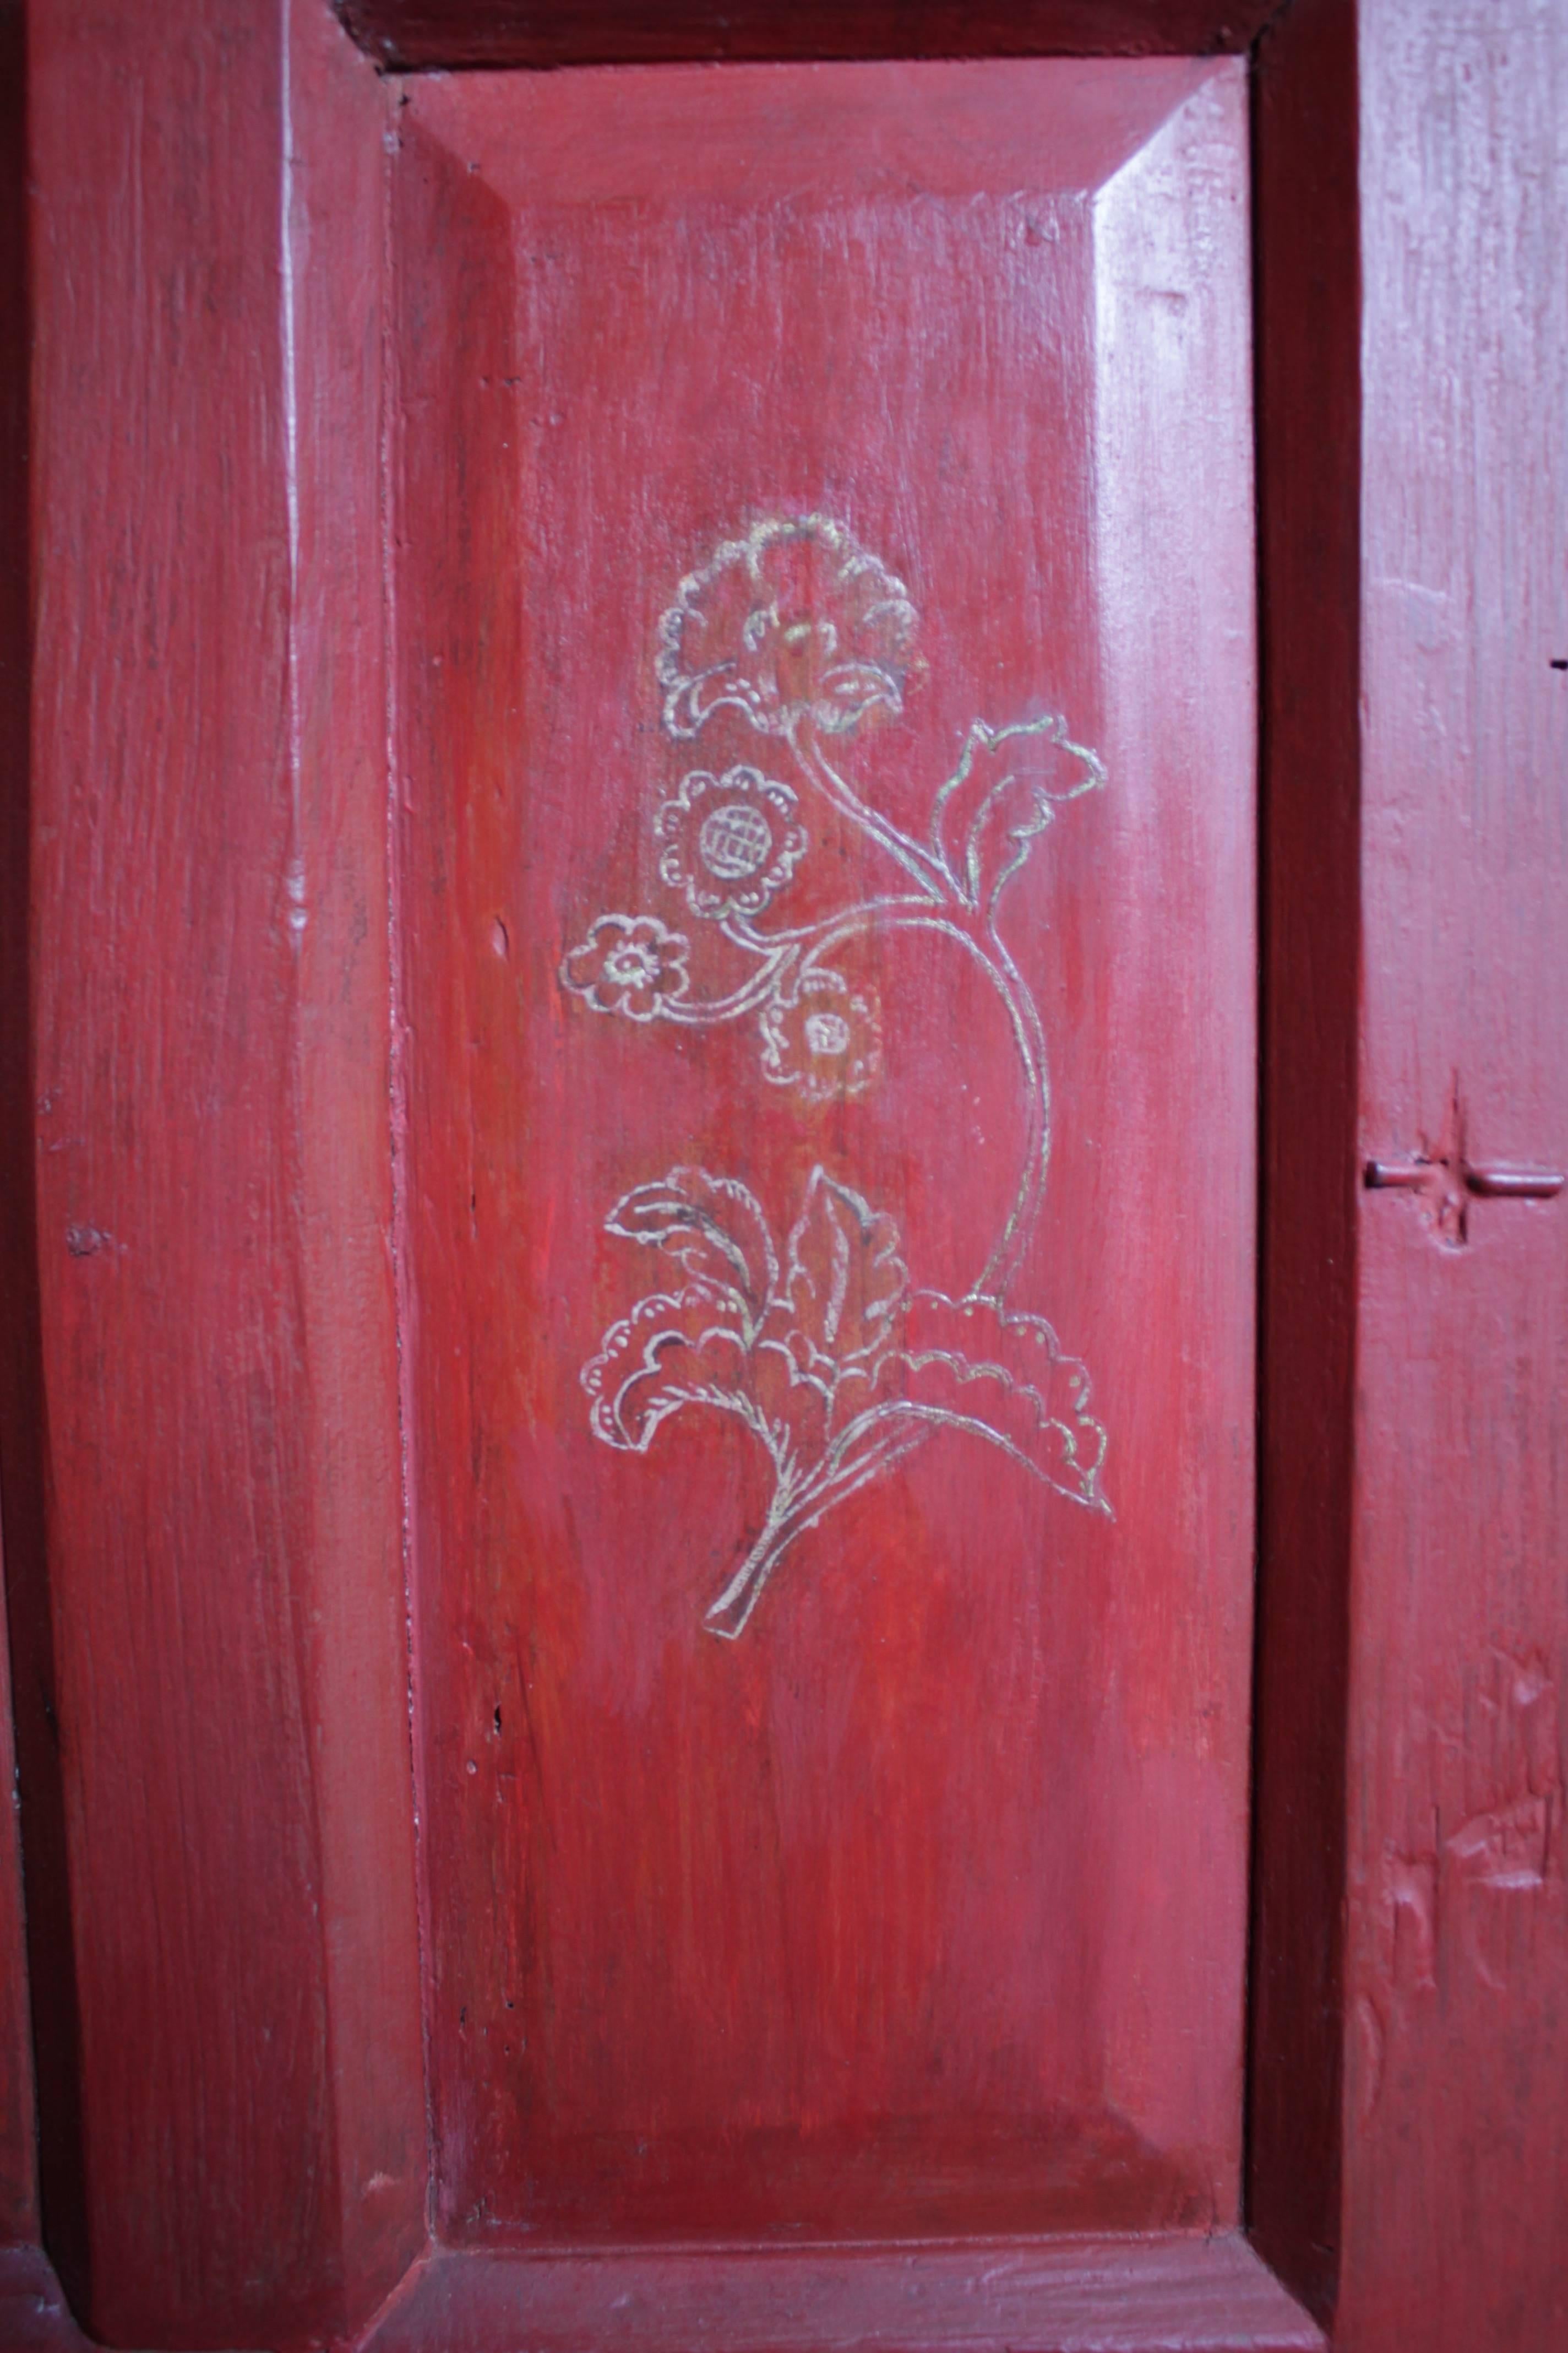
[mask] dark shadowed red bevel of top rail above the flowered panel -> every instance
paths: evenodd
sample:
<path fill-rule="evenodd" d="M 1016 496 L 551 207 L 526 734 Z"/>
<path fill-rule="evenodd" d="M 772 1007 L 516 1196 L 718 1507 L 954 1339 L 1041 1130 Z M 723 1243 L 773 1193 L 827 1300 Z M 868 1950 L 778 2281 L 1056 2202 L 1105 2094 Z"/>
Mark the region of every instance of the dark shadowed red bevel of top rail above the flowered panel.
<path fill-rule="evenodd" d="M 1241 54 L 1279 0 L 336 0 L 355 40 L 395 71 L 614 66 L 827 56 Z"/>

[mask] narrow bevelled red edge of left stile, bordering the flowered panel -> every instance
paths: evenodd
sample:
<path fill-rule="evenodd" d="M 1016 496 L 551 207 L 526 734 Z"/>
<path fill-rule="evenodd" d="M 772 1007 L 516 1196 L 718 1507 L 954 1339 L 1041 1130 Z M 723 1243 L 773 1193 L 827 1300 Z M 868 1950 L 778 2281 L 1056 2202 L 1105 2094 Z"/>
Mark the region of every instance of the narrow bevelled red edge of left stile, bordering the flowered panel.
<path fill-rule="evenodd" d="M 393 1287 L 383 544 L 388 92 L 292 0 L 284 367 L 299 555 L 289 725 L 296 1186 L 315 1748 L 341 2327 L 425 2235 L 428 2122 Z M 284 289 L 284 299 L 287 299 Z"/>

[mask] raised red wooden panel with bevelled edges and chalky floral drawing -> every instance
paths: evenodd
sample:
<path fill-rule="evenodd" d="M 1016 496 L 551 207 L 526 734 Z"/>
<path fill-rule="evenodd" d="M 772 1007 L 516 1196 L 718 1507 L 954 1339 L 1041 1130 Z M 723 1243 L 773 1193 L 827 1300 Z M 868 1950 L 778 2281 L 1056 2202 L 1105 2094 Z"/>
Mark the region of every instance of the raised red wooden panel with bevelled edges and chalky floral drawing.
<path fill-rule="evenodd" d="M 437 2233 L 1237 2221 L 1237 61 L 409 85 Z"/>

